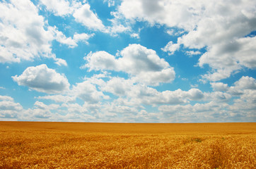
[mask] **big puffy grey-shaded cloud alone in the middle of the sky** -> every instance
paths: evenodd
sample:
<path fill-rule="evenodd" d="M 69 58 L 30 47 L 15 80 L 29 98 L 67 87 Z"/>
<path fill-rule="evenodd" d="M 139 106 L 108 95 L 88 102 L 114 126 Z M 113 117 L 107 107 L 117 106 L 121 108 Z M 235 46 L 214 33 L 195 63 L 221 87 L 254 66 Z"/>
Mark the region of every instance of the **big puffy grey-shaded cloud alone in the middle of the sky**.
<path fill-rule="evenodd" d="M 159 82 L 172 82 L 175 71 L 156 51 L 140 44 L 130 44 L 120 52 L 119 58 L 105 51 L 90 53 L 85 57 L 83 68 L 89 70 L 115 70 L 128 73 L 135 82 L 158 85 Z"/>

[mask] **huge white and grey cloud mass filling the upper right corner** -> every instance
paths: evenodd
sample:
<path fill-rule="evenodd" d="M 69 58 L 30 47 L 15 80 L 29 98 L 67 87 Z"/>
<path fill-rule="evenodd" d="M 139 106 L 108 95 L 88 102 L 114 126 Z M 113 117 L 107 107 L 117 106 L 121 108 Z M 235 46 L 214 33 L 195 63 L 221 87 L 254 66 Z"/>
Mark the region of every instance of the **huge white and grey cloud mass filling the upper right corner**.
<path fill-rule="evenodd" d="M 174 54 L 180 44 L 188 49 L 206 49 L 199 66 L 207 64 L 212 68 L 203 76 L 207 80 L 218 81 L 243 67 L 256 67 L 256 38 L 245 37 L 256 30 L 255 1 L 124 0 L 118 11 L 129 20 L 184 30 L 178 44 L 169 42 L 163 51 Z M 173 33 L 169 30 L 169 34 Z"/>

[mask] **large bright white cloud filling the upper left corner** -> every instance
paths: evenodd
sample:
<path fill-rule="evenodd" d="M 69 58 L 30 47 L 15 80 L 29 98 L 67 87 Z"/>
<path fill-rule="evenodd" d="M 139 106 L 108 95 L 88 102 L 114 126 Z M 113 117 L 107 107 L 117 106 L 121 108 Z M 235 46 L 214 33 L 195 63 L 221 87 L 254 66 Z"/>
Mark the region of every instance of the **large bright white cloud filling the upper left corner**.
<path fill-rule="evenodd" d="M 37 57 L 53 58 L 58 65 L 66 61 L 52 54 L 52 27 L 28 0 L 0 3 L 0 62 L 19 63 Z"/>

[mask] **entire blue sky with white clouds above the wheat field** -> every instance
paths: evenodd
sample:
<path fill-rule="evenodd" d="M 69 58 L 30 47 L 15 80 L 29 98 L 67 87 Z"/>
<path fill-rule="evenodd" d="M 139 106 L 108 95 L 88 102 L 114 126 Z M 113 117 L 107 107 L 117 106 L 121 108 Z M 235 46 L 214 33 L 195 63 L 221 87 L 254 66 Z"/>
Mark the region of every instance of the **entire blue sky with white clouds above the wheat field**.
<path fill-rule="evenodd" d="M 1 0 L 0 120 L 256 121 L 254 0 Z"/>

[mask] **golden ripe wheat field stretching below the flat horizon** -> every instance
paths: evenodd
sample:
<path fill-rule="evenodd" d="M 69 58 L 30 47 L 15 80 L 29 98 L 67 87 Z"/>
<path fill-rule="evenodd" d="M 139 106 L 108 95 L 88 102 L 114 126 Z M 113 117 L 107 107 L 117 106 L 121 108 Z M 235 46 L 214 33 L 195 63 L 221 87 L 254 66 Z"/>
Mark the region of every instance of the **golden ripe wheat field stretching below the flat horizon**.
<path fill-rule="evenodd" d="M 256 168 L 256 123 L 0 122 L 0 168 Z"/>

